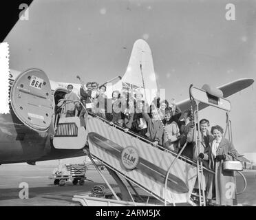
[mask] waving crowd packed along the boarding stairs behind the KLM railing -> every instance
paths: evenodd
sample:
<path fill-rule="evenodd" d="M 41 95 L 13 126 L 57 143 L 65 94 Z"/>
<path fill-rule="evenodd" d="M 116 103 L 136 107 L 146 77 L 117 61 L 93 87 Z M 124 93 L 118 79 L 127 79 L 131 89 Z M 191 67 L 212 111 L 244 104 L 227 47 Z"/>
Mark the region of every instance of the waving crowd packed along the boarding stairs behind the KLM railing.
<path fill-rule="evenodd" d="M 104 85 L 94 89 L 87 83 L 86 87 L 87 90 L 81 87 L 80 94 L 87 111 L 109 120 L 110 124 L 124 127 L 125 132 L 133 131 L 149 138 L 155 146 L 160 144 L 178 151 L 180 128 L 177 115 L 181 111 L 174 100 L 169 104 L 167 100 L 160 101 L 156 97 L 148 104 L 140 91 L 132 93 L 126 89 L 115 90 L 112 97 L 107 98 Z"/>

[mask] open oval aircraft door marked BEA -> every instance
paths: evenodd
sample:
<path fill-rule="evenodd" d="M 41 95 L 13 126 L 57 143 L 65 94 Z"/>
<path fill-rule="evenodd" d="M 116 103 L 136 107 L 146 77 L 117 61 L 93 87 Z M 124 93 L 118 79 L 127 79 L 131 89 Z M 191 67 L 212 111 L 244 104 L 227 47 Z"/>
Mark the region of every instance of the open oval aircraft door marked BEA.
<path fill-rule="evenodd" d="M 52 122 L 50 81 L 40 69 L 21 73 L 10 91 L 12 109 L 19 120 L 34 131 L 45 132 Z"/>

